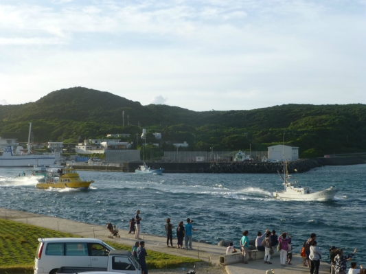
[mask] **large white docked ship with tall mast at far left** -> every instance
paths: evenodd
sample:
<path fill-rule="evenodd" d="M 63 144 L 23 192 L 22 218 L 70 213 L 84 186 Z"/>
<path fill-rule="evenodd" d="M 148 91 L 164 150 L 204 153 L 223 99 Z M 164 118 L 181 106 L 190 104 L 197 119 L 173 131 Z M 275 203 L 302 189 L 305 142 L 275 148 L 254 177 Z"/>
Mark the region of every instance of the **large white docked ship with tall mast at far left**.
<path fill-rule="evenodd" d="M 32 130 L 32 123 L 30 123 L 30 133 Z M 0 167 L 22 167 L 30 165 L 45 165 L 52 166 L 60 163 L 60 153 L 39 153 L 35 154 L 30 150 L 30 134 L 28 137 L 27 150 L 23 150 L 23 147 L 18 146 L 15 150 L 12 146 L 4 148 L 3 152 L 0 152 Z"/>

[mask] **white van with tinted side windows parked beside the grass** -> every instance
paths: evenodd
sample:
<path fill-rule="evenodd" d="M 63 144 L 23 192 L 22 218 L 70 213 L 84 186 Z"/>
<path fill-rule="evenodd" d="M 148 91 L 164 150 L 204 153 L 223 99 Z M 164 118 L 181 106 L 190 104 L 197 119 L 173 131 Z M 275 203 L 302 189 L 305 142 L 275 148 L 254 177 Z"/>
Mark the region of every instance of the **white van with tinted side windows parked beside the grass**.
<path fill-rule="evenodd" d="M 106 268 L 113 249 L 93 238 L 39 238 L 34 274 L 54 274 L 61 266 Z"/>

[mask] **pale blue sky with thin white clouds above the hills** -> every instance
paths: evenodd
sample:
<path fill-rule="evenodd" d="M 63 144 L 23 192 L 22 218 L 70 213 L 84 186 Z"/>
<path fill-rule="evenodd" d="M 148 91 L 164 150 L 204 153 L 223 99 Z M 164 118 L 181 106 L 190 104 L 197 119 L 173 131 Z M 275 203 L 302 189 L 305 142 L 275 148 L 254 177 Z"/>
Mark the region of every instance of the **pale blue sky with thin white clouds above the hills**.
<path fill-rule="evenodd" d="M 366 0 L 0 0 L 0 104 L 366 104 Z"/>

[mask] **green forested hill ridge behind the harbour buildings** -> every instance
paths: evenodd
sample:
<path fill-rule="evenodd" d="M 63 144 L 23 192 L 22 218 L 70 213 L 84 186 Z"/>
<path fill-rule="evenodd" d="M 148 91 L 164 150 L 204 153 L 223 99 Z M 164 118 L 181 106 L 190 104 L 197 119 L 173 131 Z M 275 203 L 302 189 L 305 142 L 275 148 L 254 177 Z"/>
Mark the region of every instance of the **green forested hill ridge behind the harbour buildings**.
<path fill-rule="evenodd" d="M 285 133 L 285 143 L 299 146 L 305 155 L 366 151 L 364 104 L 196 112 L 177 106 L 142 106 L 112 93 L 74 87 L 53 91 L 36 102 L 0 105 L 1 137 L 26 141 L 30 122 L 34 141 L 76 143 L 108 133 L 130 133 L 128 141 L 136 141 L 141 128 L 147 128 L 163 134 L 161 141 L 148 135 L 148 142 L 161 142 L 164 150 L 172 149 L 167 142 L 183 141 L 190 144 L 190 150 L 245 150 L 249 146 L 266 150 L 268 145 L 281 144 Z"/>

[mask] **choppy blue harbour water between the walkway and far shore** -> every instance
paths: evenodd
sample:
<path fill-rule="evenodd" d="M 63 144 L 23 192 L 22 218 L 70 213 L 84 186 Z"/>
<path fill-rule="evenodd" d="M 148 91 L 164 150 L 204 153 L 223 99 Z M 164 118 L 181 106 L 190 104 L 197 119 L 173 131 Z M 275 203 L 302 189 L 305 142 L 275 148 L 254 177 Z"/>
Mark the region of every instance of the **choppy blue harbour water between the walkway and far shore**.
<path fill-rule="evenodd" d="M 258 231 L 275 229 L 293 236 L 295 252 L 310 233 L 326 258 L 331 245 L 358 248 L 356 261 L 365 263 L 366 165 L 327 166 L 297 174 L 299 183 L 322 190 L 330 185 L 339 192 L 333 201 L 275 201 L 282 190 L 277 174 L 162 174 L 82 172 L 93 179 L 89 190 L 37 190 L 36 181 L 11 181 L 23 168 L 0 168 L 0 207 L 57 216 L 97 225 L 128 229 L 128 220 L 141 211 L 141 230 L 165 236 L 165 218 L 174 227 L 194 220 L 196 240 L 217 244 L 222 239 L 238 246 L 242 231 L 249 238 Z"/>

